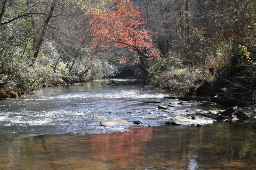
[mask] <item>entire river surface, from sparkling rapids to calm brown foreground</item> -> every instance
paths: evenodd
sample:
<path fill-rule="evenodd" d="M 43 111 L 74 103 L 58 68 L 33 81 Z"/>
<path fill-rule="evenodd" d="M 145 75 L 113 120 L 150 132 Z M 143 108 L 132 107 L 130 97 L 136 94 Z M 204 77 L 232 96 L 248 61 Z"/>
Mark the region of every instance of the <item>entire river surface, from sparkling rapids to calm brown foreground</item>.
<path fill-rule="evenodd" d="M 256 169 L 255 124 L 167 126 L 177 115 L 224 108 L 179 105 L 163 98 L 167 91 L 101 82 L 1 100 L 0 169 Z M 159 111 L 145 100 L 173 107 Z M 97 116 L 131 125 L 100 126 Z"/>

